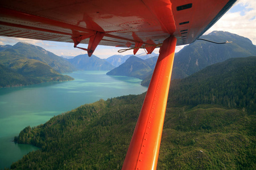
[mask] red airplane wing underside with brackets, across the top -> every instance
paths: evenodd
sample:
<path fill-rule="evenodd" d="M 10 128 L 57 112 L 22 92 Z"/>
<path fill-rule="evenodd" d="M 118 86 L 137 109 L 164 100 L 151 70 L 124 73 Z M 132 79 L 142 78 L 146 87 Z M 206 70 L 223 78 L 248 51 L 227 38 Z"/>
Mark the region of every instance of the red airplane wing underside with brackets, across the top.
<path fill-rule="evenodd" d="M 75 46 L 89 43 L 91 53 L 98 44 L 154 46 L 170 35 L 176 37 L 177 45 L 184 45 L 201 36 L 234 2 L 1 1 L 0 35 L 73 42 Z"/>

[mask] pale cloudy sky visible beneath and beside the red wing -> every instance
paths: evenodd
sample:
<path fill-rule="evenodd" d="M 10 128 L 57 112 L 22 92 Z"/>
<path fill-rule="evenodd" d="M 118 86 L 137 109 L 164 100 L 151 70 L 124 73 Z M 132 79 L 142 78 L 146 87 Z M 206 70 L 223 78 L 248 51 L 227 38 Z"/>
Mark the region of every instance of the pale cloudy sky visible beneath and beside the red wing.
<path fill-rule="evenodd" d="M 247 37 L 253 42 L 254 45 L 256 45 L 256 1 L 240 0 L 236 2 L 235 5 L 213 25 L 213 27 L 205 32 L 205 35 L 212 31 L 227 31 L 230 33 L 235 33 L 237 35 Z M 84 50 L 73 48 L 73 44 L 67 42 L 42 41 L 0 36 L 0 45 L 14 45 L 17 42 L 27 42 L 29 44 L 41 46 L 57 56 L 78 56 L 86 53 Z M 86 48 L 87 45 L 82 44 L 80 46 Z M 184 46 L 176 46 L 176 52 L 181 50 L 183 47 Z M 121 54 L 123 56 L 133 54 L 133 50 L 118 53 L 117 51 L 119 49 L 123 48 L 98 45 L 93 54 L 100 58 L 108 58 L 115 54 Z M 159 48 L 155 49 L 154 53 L 158 53 L 158 50 Z M 140 53 L 145 52 L 143 49 L 140 49 L 137 54 Z"/>

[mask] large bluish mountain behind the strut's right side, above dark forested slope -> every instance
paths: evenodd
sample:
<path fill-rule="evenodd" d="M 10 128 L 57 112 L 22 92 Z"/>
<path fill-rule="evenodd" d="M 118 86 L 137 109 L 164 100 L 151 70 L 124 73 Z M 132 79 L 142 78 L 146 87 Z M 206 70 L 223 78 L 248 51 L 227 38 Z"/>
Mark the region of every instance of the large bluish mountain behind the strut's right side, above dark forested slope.
<path fill-rule="evenodd" d="M 232 43 L 214 44 L 197 40 L 185 46 L 175 54 L 172 79 L 185 78 L 209 65 L 229 58 L 256 56 L 256 46 L 249 39 L 233 33 L 213 31 L 200 38 L 216 42 L 232 41 Z M 142 80 L 143 86 L 148 86 L 151 76 L 152 74 Z"/>

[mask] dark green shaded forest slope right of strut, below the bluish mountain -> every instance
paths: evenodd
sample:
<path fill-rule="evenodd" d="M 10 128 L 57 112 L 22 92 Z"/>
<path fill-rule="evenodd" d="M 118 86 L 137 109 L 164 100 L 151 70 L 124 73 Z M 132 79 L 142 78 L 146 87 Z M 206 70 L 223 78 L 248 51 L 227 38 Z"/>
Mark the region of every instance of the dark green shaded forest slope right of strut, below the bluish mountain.
<path fill-rule="evenodd" d="M 186 105 L 221 104 L 256 113 L 256 57 L 230 58 L 174 81 L 173 101 Z"/>

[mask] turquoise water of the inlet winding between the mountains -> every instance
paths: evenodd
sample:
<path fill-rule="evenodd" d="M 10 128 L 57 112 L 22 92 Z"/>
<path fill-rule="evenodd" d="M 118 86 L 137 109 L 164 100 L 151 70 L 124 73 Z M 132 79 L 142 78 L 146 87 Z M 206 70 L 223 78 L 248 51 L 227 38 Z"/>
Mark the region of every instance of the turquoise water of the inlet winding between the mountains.
<path fill-rule="evenodd" d="M 76 71 L 69 82 L 50 82 L 26 87 L 0 88 L 0 169 L 38 148 L 15 144 L 14 136 L 26 126 L 44 124 L 57 114 L 93 103 L 147 90 L 141 80 L 108 76 L 106 71 Z"/>

